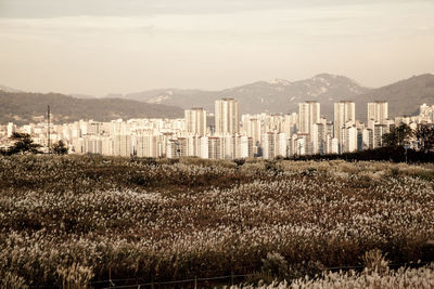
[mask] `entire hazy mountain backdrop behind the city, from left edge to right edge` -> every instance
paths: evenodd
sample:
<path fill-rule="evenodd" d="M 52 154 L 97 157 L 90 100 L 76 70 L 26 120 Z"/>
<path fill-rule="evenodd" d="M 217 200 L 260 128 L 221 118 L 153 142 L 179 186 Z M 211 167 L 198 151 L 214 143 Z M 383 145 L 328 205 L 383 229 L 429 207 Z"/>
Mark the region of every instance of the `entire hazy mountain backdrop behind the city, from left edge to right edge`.
<path fill-rule="evenodd" d="M 31 94 L 10 88 L 8 91 L 9 94 L 13 93 L 10 97 L 5 97 L 5 92 L 0 94 L 1 122 L 10 119 L 14 115 L 13 110 L 16 109 L 27 115 L 27 117 L 21 117 L 23 120 L 29 119 L 28 116 L 33 114 L 40 115 L 50 100 L 54 101 L 54 98 L 62 100 L 61 103 L 66 105 L 59 106 L 59 108 L 64 107 L 61 109 L 61 115 L 65 119 L 76 120 L 77 117 L 82 117 L 108 120 L 117 117 L 182 117 L 181 108 L 191 107 L 204 107 L 214 113 L 214 101 L 221 97 L 237 98 L 242 114 L 264 111 L 288 114 L 297 111 L 301 102 L 318 101 L 321 104 L 321 115 L 330 120 L 333 115 L 333 103 L 348 100 L 356 103 L 357 118 L 365 121 L 367 102 L 370 101 L 387 101 L 390 117 L 416 114 L 422 103 L 434 104 L 434 75 L 414 76 L 378 89 L 366 88 L 344 76 L 320 74 L 306 80 L 257 81 L 221 91 L 161 89 L 110 94 L 107 95 L 110 98 L 107 96 L 94 98 L 84 94 L 74 95 L 77 97 L 61 94 Z M 51 98 L 47 95 L 51 95 Z M 53 95 L 56 97 L 52 98 Z M 8 100 L 11 101 L 11 96 L 20 98 L 20 104 L 14 107 L 5 104 Z M 36 110 L 24 108 L 33 107 L 35 103 L 41 103 L 41 108 Z M 52 106 L 53 114 L 56 114 L 56 105 L 52 103 Z"/>

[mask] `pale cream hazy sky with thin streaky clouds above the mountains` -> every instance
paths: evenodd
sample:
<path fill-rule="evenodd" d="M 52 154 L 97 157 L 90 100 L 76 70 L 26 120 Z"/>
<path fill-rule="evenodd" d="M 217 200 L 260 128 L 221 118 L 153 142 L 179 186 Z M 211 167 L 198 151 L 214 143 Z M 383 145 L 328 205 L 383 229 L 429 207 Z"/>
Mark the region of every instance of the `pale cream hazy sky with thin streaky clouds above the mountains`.
<path fill-rule="evenodd" d="M 434 73 L 434 0 L 0 0 L 0 83 L 224 89 L 319 73 Z"/>

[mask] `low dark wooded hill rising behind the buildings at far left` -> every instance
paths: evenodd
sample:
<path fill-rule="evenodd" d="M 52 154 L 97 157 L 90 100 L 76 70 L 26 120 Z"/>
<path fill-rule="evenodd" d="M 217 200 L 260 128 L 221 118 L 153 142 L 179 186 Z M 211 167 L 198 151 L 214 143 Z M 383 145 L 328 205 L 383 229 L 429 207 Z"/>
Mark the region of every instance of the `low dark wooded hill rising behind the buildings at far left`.
<path fill-rule="evenodd" d="M 59 93 L 23 93 L 0 91 L 0 123 L 35 122 L 47 114 L 50 105 L 53 121 L 72 122 L 79 119 L 110 121 L 116 118 L 182 117 L 180 107 L 149 104 L 120 98 L 75 98 Z"/>

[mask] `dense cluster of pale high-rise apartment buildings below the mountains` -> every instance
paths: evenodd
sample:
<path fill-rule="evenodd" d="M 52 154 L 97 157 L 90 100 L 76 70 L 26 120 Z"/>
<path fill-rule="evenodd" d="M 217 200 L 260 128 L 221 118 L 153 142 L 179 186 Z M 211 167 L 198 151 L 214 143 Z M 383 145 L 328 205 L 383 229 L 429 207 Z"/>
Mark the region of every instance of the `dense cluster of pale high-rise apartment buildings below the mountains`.
<path fill-rule="evenodd" d="M 320 104 L 309 101 L 298 104 L 298 113 L 290 115 L 241 116 L 237 100 L 221 98 L 215 102 L 214 124 L 208 123 L 213 115 L 203 108 L 186 109 L 180 119 L 80 120 L 65 124 L 42 121 L 22 127 L 10 122 L 0 126 L 0 147 L 10 145 L 9 137 L 17 131 L 30 134 L 46 148 L 62 140 L 72 154 L 271 159 L 376 148 L 392 126 L 407 123 L 416 129 L 420 123 L 434 123 L 434 105 L 425 104 L 418 116 L 390 119 L 387 102 L 368 103 L 366 122 L 356 119 L 354 102 L 335 103 L 333 121 L 320 113 Z"/>

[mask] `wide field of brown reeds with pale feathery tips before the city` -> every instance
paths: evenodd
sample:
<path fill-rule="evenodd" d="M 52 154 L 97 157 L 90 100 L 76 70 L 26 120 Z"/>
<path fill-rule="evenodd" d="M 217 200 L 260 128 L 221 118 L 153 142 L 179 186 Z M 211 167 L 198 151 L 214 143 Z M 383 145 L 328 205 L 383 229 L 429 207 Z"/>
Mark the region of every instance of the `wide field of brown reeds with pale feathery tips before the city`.
<path fill-rule="evenodd" d="M 434 166 L 0 157 L 0 224 L 2 288 L 397 268 L 434 261 Z"/>

